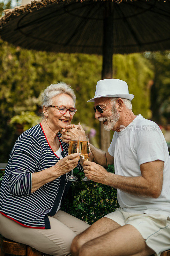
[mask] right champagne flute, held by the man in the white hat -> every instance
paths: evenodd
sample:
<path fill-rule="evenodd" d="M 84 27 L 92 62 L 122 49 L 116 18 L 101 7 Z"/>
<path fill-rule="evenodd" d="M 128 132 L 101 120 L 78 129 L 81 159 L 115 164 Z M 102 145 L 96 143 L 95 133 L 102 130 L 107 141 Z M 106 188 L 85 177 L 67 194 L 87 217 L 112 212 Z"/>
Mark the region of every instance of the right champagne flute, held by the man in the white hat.
<path fill-rule="evenodd" d="M 90 145 L 89 145 L 89 137 L 88 135 L 78 137 L 79 140 L 79 152 L 81 153 L 81 157 L 84 161 L 88 161 L 90 156 Z M 90 180 L 84 177 L 82 180 Z"/>

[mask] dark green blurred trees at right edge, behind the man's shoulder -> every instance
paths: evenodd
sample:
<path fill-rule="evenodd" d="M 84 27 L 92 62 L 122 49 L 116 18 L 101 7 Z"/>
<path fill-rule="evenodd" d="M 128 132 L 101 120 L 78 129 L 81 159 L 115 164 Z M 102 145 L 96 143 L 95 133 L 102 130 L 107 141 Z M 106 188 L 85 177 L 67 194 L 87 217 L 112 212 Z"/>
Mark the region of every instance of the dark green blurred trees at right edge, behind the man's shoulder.
<path fill-rule="evenodd" d="M 150 83 L 152 120 L 170 123 L 170 52 L 146 52 L 145 57 L 154 74 Z"/>

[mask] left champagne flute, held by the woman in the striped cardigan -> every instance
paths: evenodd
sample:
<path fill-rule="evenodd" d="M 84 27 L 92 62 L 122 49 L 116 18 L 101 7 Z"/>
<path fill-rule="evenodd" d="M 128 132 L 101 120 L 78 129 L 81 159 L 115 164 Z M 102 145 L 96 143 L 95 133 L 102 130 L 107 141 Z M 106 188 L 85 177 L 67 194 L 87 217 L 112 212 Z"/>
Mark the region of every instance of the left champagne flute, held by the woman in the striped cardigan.
<path fill-rule="evenodd" d="M 78 153 L 78 147 L 79 147 L 78 137 L 70 137 L 68 155 Z M 70 180 L 70 181 L 77 180 L 77 177 L 73 176 L 73 170 L 71 171 L 71 175 L 66 177 L 66 180 Z"/>

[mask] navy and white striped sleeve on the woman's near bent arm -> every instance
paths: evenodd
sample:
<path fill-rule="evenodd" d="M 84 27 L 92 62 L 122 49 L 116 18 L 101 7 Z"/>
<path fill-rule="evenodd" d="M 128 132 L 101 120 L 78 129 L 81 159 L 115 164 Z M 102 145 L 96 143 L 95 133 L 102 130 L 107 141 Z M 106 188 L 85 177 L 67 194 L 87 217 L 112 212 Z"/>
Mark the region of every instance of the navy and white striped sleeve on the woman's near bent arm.
<path fill-rule="evenodd" d="M 9 189 L 15 196 L 31 193 L 32 173 L 36 172 L 41 159 L 41 146 L 36 137 L 26 136 L 15 148 L 8 176 Z"/>

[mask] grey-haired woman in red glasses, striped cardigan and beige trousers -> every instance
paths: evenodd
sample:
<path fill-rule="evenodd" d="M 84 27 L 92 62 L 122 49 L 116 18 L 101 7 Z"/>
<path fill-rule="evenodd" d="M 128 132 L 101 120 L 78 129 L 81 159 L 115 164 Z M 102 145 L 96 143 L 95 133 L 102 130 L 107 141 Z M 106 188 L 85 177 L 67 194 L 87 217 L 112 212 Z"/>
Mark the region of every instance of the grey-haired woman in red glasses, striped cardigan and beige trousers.
<path fill-rule="evenodd" d="M 60 205 L 70 186 L 66 173 L 79 163 L 60 137 L 76 113 L 76 96 L 65 83 L 42 94 L 43 120 L 16 141 L 0 188 L 0 233 L 56 256 L 70 255 L 73 238 L 89 225 Z"/>

